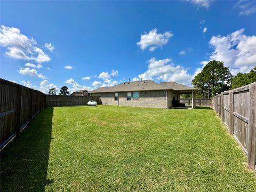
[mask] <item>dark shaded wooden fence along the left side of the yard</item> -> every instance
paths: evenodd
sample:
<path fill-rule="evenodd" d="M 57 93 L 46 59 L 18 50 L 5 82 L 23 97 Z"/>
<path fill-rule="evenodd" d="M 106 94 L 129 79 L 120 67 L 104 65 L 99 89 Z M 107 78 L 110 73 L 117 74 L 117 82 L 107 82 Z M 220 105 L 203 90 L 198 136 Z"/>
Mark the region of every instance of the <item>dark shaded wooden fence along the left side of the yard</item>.
<path fill-rule="evenodd" d="M 45 107 L 45 94 L 0 79 L 0 150 Z"/>

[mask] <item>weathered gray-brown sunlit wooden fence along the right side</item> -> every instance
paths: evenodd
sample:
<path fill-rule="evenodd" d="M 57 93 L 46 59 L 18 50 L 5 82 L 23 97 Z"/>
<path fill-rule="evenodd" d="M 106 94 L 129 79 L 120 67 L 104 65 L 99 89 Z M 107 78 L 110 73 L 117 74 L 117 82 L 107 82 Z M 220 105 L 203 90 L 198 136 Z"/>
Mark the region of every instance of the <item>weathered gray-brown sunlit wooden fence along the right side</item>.
<path fill-rule="evenodd" d="M 256 168 L 256 83 L 216 95 L 212 107 L 244 150 L 248 166 Z"/>

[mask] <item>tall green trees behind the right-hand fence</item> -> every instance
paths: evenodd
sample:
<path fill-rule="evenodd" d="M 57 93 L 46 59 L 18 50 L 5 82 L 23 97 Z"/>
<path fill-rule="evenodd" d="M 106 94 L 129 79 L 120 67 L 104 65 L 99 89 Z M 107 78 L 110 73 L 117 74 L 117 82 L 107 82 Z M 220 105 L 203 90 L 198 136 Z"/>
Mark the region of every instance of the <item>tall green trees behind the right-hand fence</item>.
<path fill-rule="evenodd" d="M 238 87 L 256 82 L 256 67 L 249 73 L 238 73 L 231 75 L 229 68 L 222 61 L 212 60 L 207 63 L 192 80 L 192 84 L 198 93 L 196 98 L 212 98 L 223 91 L 236 89 Z M 183 98 L 191 98 L 191 94 L 182 94 Z"/>

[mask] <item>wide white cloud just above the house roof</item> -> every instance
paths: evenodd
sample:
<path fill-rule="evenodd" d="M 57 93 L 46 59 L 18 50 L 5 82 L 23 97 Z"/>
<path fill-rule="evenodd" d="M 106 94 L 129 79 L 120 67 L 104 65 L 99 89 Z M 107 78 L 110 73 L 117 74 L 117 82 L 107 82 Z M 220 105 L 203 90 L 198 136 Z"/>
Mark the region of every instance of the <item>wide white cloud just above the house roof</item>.
<path fill-rule="evenodd" d="M 156 58 L 151 58 L 147 63 L 148 69 L 145 73 L 140 74 L 139 78 L 191 85 L 191 81 L 195 76 L 195 74 L 190 75 L 186 68 L 174 65 L 171 59 L 156 60 Z M 196 69 L 197 72 L 198 70 Z"/>

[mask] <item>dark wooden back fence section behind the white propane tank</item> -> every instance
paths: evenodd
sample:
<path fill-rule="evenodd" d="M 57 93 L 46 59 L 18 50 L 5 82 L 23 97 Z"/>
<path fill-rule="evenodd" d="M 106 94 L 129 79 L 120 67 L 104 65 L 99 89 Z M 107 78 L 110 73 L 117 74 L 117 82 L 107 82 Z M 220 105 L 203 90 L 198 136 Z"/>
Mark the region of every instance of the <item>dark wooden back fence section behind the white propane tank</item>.
<path fill-rule="evenodd" d="M 101 103 L 100 97 L 95 96 L 46 95 L 46 107 L 83 106 L 91 100 Z"/>

